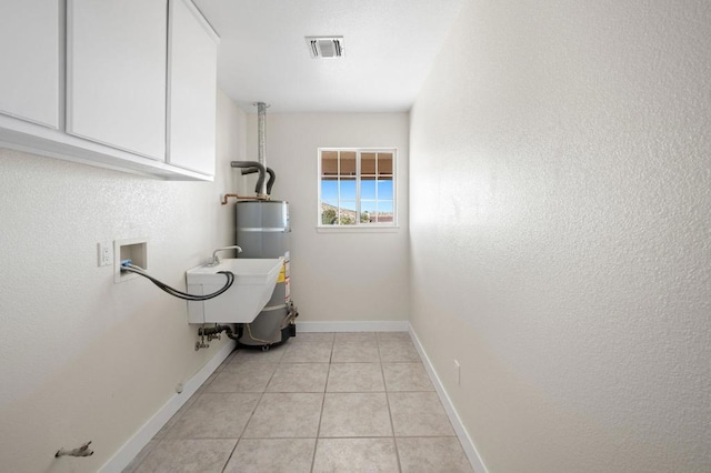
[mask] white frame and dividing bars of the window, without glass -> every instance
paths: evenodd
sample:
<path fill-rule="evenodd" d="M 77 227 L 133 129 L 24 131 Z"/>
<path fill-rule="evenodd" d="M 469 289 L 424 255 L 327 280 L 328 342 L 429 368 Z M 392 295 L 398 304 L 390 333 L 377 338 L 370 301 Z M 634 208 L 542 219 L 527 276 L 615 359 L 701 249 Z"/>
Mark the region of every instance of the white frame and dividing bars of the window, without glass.
<path fill-rule="evenodd" d="M 324 224 L 322 221 L 322 205 L 323 199 L 321 195 L 322 191 L 322 181 L 323 181 L 323 171 L 322 171 L 322 162 L 323 162 L 323 152 L 354 152 L 356 153 L 356 222 L 354 224 Z M 392 221 L 391 222 L 368 222 L 362 223 L 360 221 L 361 208 L 362 208 L 362 198 L 361 198 L 361 155 L 363 153 L 390 153 L 392 154 Z M 399 150 L 397 147 L 382 147 L 382 148 L 333 148 L 333 147 L 323 147 L 319 148 L 317 151 L 317 187 L 318 187 L 318 200 L 317 200 L 317 230 L 318 231 L 336 231 L 336 232 L 348 232 L 348 231 L 357 231 L 357 232 L 368 232 L 368 231 L 393 231 L 399 229 L 398 227 L 398 154 Z M 340 159 L 339 159 L 340 162 Z M 340 181 L 341 174 L 340 170 L 337 171 L 337 179 Z M 375 179 L 375 188 L 378 187 L 378 180 Z M 371 201 L 367 199 L 367 201 Z M 379 202 L 378 194 L 375 193 L 375 202 Z M 390 199 L 384 199 L 383 201 L 390 201 Z M 339 185 L 339 197 L 338 204 L 340 205 L 340 185 Z"/>

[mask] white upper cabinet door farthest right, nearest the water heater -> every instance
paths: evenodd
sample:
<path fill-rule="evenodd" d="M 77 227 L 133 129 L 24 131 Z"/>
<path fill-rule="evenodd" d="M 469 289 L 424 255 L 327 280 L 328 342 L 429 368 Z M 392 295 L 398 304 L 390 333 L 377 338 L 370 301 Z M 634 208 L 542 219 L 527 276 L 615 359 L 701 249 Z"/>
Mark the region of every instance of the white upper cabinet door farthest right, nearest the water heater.
<path fill-rule="evenodd" d="M 170 164 L 214 174 L 217 36 L 189 0 L 170 1 Z"/>

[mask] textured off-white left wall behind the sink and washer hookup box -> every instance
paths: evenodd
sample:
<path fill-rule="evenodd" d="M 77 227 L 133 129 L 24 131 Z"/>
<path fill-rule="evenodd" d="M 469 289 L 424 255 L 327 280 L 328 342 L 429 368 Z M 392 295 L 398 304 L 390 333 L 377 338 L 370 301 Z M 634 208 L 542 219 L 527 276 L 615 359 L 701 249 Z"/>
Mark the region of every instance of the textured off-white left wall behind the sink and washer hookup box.
<path fill-rule="evenodd" d="M 144 279 L 113 284 L 97 243 L 149 240 L 149 270 L 184 271 L 233 241 L 229 161 L 244 113 L 218 98 L 214 182 L 164 182 L 0 150 L 0 470 L 94 472 L 226 343 L 194 351 L 187 304 Z M 53 457 L 91 440 L 94 455 Z"/>

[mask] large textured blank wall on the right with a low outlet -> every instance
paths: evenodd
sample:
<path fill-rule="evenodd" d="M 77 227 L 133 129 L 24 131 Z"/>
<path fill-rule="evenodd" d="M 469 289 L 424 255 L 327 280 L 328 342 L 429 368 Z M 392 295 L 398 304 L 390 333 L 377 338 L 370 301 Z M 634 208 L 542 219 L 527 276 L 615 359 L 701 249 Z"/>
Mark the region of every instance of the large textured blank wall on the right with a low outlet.
<path fill-rule="evenodd" d="M 704 0 L 452 30 L 411 111 L 412 324 L 490 471 L 711 471 L 709 51 Z"/>

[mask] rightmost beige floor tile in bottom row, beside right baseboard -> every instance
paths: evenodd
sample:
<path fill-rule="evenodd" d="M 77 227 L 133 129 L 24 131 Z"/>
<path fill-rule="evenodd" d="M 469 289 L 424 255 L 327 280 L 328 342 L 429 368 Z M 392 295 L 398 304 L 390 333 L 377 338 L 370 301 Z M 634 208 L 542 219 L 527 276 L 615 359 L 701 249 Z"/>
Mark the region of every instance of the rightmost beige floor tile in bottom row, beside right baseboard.
<path fill-rule="evenodd" d="M 455 436 L 398 437 L 402 473 L 472 473 L 473 470 Z"/>

